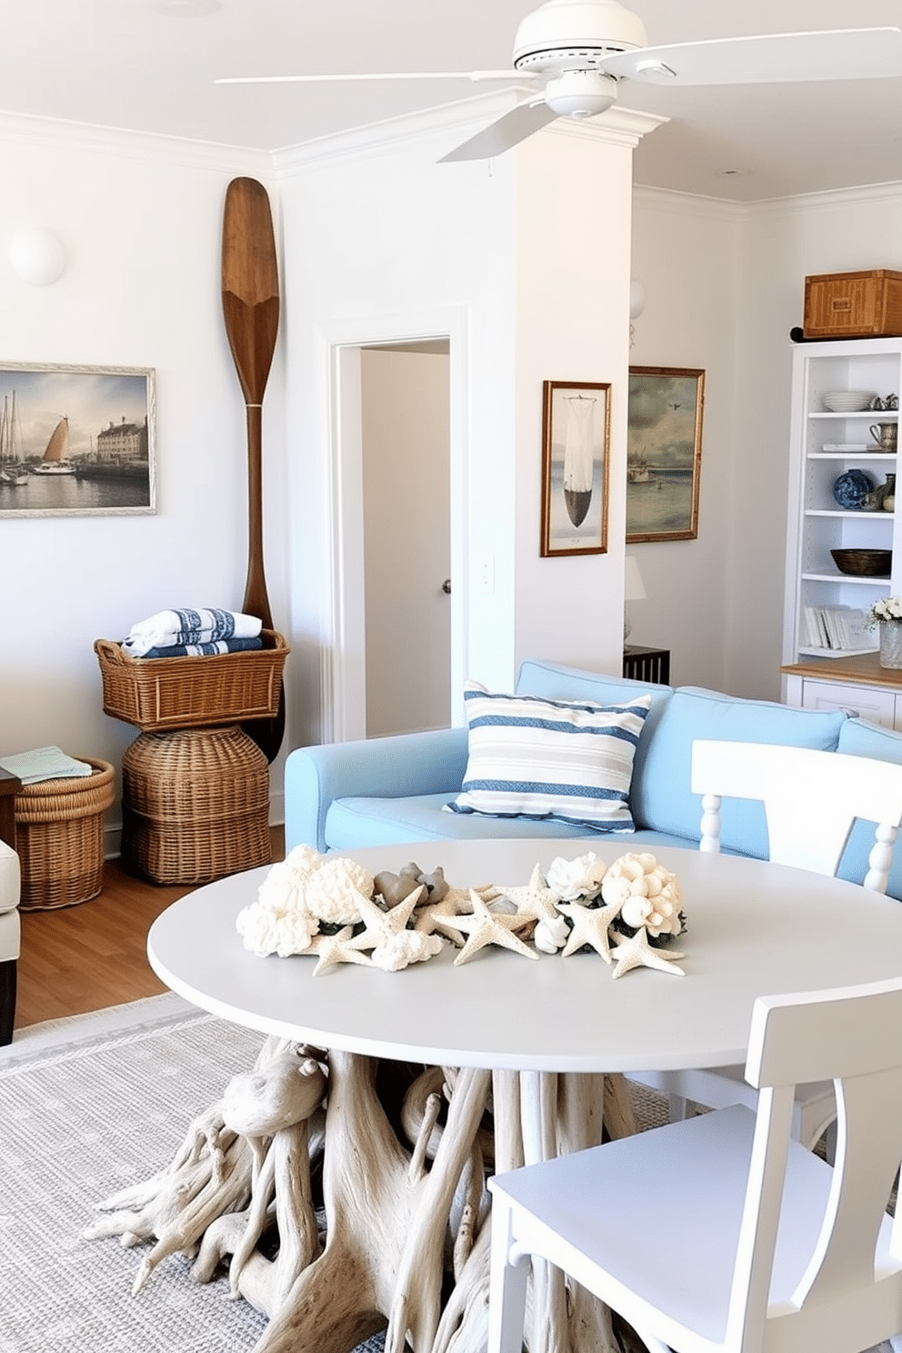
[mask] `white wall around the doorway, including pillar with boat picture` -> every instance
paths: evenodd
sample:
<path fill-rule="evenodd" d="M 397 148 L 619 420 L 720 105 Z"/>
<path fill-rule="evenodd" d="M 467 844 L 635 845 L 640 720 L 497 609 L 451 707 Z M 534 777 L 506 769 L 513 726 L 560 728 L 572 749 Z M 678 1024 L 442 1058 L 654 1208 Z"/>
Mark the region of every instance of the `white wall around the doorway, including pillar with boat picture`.
<path fill-rule="evenodd" d="M 346 467 L 330 469 L 341 432 L 327 402 L 330 353 L 429 333 L 435 317 L 458 326 L 450 345 L 452 511 L 464 555 L 462 570 L 452 560 L 464 584 L 457 687 L 469 675 L 504 689 L 530 655 L 619 667 L 634 138 L 623 127 L 549 129 L 498 161 L 441 165 L 454 141 L 423 133 L 368 154 L 352 146 L 331 160 L 280 164 L 292 641 L 307 693 L 300 740 L 329 736 L 342 624 L 330 557 L 356 521 Z M 603 559 L 538 559 L 544 379 L 611 380 L 621 392 Z M 348 502 L 335 521 L 333 490 Z M 491 591 L 479 583 L 487 561 Z"/>

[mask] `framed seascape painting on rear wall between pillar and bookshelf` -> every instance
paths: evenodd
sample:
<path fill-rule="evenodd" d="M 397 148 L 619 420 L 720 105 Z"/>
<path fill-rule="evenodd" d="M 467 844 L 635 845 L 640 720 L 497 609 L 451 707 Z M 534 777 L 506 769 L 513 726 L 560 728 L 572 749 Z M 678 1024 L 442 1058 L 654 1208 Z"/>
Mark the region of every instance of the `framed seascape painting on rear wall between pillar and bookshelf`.
<path fill-rule="evenodd" d="M 695 540 L 705 372 L 630 367 L 626 543 Z"/>

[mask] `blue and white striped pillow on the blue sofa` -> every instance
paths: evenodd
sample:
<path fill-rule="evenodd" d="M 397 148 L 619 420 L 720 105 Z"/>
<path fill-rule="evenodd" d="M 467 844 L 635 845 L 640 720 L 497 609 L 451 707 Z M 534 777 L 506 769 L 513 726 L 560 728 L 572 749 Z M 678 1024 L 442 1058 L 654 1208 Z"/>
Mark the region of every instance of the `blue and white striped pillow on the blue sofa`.
<path fill-rule="evenodd" d="M 633 832 L 633 758 L 652 704 L 498 695 L 464 686 L 469 743 L 462 793 L 445 806 L 491 817 L 550 817 L 598 832 Z"/>

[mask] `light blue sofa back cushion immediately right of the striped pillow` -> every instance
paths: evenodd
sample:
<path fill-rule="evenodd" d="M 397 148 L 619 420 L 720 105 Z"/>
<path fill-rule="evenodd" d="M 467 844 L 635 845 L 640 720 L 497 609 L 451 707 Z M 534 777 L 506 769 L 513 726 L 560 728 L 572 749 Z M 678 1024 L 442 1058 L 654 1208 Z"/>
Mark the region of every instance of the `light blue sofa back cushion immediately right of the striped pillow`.
<path fill-rule="evenodd" d="M 646 750 L 641 786 L 633 786 L 637 827 L 699 839 L 701 796 L 690 789 L 692 743 L 699 737 L 737 743 L 780 743 L 836 751 L 848 714 L 795 709 L 765 700 L 738 700 L 683 686 L 673 691 Z M 764 806 L 729 798 L 721 809 L 725 850 L 767 859 Z"/>

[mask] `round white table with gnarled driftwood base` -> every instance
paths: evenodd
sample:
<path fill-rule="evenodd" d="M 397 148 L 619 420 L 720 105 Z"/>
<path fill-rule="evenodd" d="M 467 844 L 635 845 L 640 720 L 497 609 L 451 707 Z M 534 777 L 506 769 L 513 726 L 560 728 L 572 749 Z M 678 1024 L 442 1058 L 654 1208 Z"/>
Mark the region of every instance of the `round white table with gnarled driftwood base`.
<path fill-rule="evenodd" d="M 629 850 L 629 838 L 594 836 L 348 854 L 373 874 L 411 861 L 425 871 L 441 866 L 465 888 L 525 884 L 557 855 L 595 851 L 611 862 Z M 270 1316 L 257 1353 L 349 1353 L 385 1321 L 394 1350 L 484 1348 L 485 1174 L 594 1145 L 602 1119 L 614 1131 L 611 1109 L 623 1104 L 611 1085 L 622 1091 L 623 1082 L 610 1073 L 742 1063 L 759 994 L 899 970 L 897 901 L 760 861 L 664 847 L 653 854 L 683 886 L 688 930 L 671 947 L 684 953 L 684 977 L 641 967 L 615 981 L 594 951 L 530 961 L 484 948 L 454 967 L 450 946 L 400 973 L 343 965 L 314 977 L 311 958 L 257 958 L 237 934 L 238 911 L 266 870 L 201 888 L 158 917 L 149 936 L 158 976 L 226 1020 L 308 1045 L 327 1086 L 327 1243 L 318 1257 L 307 1254 L 291 1284 L 261 1254 L 241 1269 L 235 1288 Z M 402 1063 L 415 1063 L 404 1066 L 407 1119 L 388 1074 Z M 293 1162 L 281 1193 L 276 1187 L 289 1220 L 303 1212 L 298 1200 L 308 1189 L 308 1181 L 299 1185 L 308 1168 L 307 1123 L 302 1128 L 300 1146 L 281 1132 L 272 1147 L 285 1138 L 280 1158 Z M 619 1130 L 629 1130 L 629 1114 Z M 220 1218 L 210 1233 L 227 1224 Z M 224 1249 L 242 1246 L 233 1239 Z M 565 1299 L 560 1275 L 534 1275 L 531 1307 L 533 1353 L 615 1353 L 607 1310 L 581 1289 Z"/>

